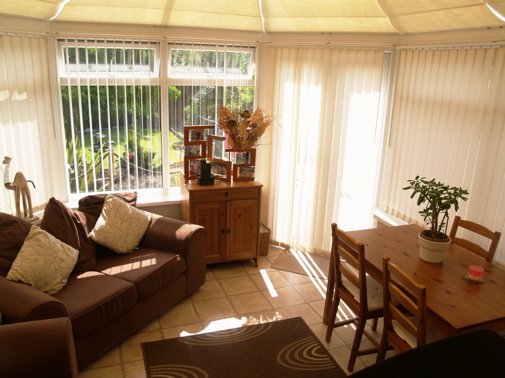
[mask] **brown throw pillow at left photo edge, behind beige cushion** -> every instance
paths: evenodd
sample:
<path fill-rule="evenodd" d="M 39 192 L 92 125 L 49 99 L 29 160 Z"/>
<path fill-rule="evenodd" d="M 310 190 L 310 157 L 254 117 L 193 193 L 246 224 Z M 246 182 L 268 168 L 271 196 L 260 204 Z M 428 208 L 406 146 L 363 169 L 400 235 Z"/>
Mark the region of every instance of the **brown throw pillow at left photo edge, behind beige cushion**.
<path fill-rule="evenodd" d="M 31 226 L 24 219 L 0 213 L 0 276 L 7 276 L 11 270 Z"/>

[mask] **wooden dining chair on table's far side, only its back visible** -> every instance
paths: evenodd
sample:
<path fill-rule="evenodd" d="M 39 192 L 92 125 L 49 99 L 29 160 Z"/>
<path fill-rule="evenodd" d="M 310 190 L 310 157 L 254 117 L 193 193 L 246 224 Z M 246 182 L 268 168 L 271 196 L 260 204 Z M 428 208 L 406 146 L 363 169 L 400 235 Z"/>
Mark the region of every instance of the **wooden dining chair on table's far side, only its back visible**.
<path fill-rule="evenodd" d="M 479 244 L 476 244 L 470 240 L 467 239 L 462 239 L 460 237 L 456 237 L 456 232 L 458 231 L 458 227 L 463 227 L 466 228 L 467 230 L 470 230 L 472 232 L 475 232 L 479 235 L 482 235 L 484 237 L 487 237 L 488 239 L 491 239 L 491 245 L 489 246 L 488 250 L 485 250 L 482 248 Z M 483 257 L 486 259 L 488 263 L 492 263 L 494 253 L 496 252 L 496 248 L 498 247 L 498 241 L 500 240 L 501 232 L 493 232 L 489 228 L 481 226 L 478 223 L 470 222 L 470 221 L 465 221 L 461 219 L 461 217 L 456 216 L 454 218 L 454 223 L 452 224 L 452 228 L 449 233 L 449 237 L 451 239 L 451 243 L 454 243 L 456 245 L 459 245 L 460 247 L 463 247 L 465 249 L 468 249 L 469 251 L 473 252 L 476 255 L 479 255 L 480 257 Z"/>

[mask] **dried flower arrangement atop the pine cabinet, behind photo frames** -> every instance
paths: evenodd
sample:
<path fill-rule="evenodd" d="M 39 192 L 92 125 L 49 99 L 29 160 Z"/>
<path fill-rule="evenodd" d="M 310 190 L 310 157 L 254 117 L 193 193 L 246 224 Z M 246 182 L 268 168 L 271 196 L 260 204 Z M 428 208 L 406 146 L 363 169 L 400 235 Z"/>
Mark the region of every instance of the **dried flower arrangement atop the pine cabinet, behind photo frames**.
<path fill-rule="evenodd" d="M 219 126 L 228 135 L 230 148 L 257 147 L 272 119 L 271 116 L 263 115 L 260 107 L 252 113 L 248 110 L 230 110 L 223 105 L 219 109 Z"/>

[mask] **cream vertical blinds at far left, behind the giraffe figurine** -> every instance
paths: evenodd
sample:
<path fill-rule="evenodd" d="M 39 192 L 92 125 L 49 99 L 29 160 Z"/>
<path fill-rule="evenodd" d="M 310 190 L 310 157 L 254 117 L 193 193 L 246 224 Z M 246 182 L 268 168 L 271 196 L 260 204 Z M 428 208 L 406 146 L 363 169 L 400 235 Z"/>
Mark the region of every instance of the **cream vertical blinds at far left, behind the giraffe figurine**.
<path fill-rule="evenodd" d="M 48 139 L 56 138 L 45 38 L 0 35 L 0 156 L 12 158 L 10 180 L 23 172 L 34 211 L 52 196 Z M 5 165 L 0 165 L 2 177 Z M 14 192 L 1 185 L 0 211 L 16 213 Z M 40 206 L 39 206 L 40 205 Z M 21 205 L 21 211 L 23 211 Z"/>

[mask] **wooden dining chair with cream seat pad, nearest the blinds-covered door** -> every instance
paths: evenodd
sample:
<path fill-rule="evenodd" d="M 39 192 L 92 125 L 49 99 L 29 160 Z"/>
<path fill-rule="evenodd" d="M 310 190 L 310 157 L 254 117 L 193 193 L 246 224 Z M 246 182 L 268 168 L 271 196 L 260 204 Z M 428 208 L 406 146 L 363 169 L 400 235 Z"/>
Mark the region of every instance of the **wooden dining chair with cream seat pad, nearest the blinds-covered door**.
<path fill-rule="evenodd" d="M 358 356 L 377 353 L 379 350 L 379 343 L 365 330 L 365 324 L 372 319 L 372 330 L 375 331 L 377 319 L 382 317 L 382 285 L 365 272 L 365 245 L 340 230 L 335 223 L 331 225 L 331 230 L 330 271 L 323 323 L 328 325 L 328 343 L 334 328 L 351 323 L 356 325 L 356 335 L 347 365 L 347 370 L 352 371 Z M 335 323 L 340 300 L 358 316 Z M 374 345 L 373 348 L 359 350 L 363 335 Z"/>

